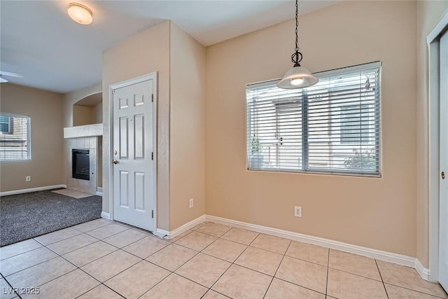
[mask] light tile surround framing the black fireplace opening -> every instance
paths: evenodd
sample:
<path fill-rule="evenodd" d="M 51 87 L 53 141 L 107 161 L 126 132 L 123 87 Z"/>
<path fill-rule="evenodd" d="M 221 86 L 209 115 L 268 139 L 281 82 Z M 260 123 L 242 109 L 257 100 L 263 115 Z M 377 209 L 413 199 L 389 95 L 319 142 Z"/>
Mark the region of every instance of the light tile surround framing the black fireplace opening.
<path fill-rule="evenodd" d="M 67 189 L 76 190 L 84 193 L 97 193 L 97 165 L 98 165 L 98 148 L 100 137 L 78 137 L 66 139 L 66 179 Z M 73 179 L 71 174 L 71 150 L 72 149 L 88 149 L 90 160 L 90 181 L 82 179 Z"/>

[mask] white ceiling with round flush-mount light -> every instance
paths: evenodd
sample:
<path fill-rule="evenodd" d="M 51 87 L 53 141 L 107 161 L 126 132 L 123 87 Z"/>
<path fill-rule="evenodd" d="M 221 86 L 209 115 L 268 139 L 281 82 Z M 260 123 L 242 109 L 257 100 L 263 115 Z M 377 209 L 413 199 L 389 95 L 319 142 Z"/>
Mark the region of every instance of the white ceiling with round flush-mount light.
<path fill-rule="evenodd" d="M 66 14 L 73 1 L 0 1 L 0 69 L 25 76 L 4 78 L 19 85 L 71 92 L 102 80 L 102 50 L 163 20 L 172 20 L 210 46 L 295 14 L 293 0 L 82 0 L 78 3 L 92 10 L 94 21 L 79 25 Z M 300 1 L 300 14 L 339 1 Z"/>

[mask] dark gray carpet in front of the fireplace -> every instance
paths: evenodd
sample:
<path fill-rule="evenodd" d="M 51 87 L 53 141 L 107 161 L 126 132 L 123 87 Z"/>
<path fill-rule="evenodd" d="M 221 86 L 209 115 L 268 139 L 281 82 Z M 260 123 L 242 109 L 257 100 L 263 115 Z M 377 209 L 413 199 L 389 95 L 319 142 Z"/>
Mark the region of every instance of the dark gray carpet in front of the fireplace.
<path fill-rule="evenodd" d="M 0 246 L 101 217 L 102 197 L 48 191 L 0 197 Z"/>

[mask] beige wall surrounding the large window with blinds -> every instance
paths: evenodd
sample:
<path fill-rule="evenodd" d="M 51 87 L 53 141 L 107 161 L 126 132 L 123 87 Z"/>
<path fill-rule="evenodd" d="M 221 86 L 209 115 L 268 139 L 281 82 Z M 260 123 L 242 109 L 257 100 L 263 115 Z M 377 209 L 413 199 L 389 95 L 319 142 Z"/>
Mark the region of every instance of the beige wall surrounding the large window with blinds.
<path fill-rule="evenodd" d="M 300 17 L 311 71 L 383 62 L 381 178 L 246 170 L 245 85 L 291 67 L 294 23 L 207 48 L 207 214 L 416 256 L 416 2 L 344 1 Z"/>

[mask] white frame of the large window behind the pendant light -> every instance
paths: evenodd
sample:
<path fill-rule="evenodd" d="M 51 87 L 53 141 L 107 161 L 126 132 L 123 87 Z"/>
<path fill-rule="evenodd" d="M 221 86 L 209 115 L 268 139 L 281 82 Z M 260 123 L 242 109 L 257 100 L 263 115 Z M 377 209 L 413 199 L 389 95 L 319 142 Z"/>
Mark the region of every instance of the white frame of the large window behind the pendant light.
<path fill-rule="evenodd" d="M 309 162 L 308 162 L 308 151 L 309 151 L 309 137 L 308 137 L 308 104 L 309 101 L 307 99 L 307 97 L 304 97 L 304 99 L 307 99 L 306 101 L 302 101 L 302 111 L 301 116 L 302 116 L 302 143 L 301 143 L 301 148 L 302 148 L 302 154 L 300 156 L 301 158 L 301 162 L 300 162 L 300 168 L 297 167 L 297 169 L 287 169 L 287 168 L 251 168 L 249 165 L 249 159 L 251 158 L 250 155 L 248 155 L 249 153 L 249 149 L 251 148 L 251 144 L 249 142 L 249 134 L 251 134 L 252 130 L 251 130 L 251 123 L 249 121 L 250 115 L 249 115 L 249 109 L 251 109 L 252 107 L 249 107 L 248 104 L 248 98 L 247 95 L 245 97 L 246 99 L 246 151 L 245 151 L 245 155 L 246 155 L 246 170 L 247 171 L 255 171 L 255 172 L 287 172 L 287 173 L 297 173 L 297 174 L 330 174 L 330 175 L 341 175 L 341 176 L 366 176 L 366 177 L 374 177 L 374 178 L 381 178 L 381 169 L 382 169 L 382 155 L 381 155 L 381 66 L 382 63 L 377 61 L 377 62 L 369 62 L 366 64 L 357 64 L 351 67 L 343 67 L 343 68 L 338 68 L 338 69 L 331 69 L 328 71 L 319 71 L 316 73 L 313 73 L 314 76 L 321 78 L 321 77 L 327 77 L 327 76 L 334 76 L 337 74 L 344 74 L 346 72 L 351 72 L 351 71 L 363 71 L 365 69 L 370 69 L 370 68 L 377 68 L 378 69 L 378 95 L 377 95 L 377 103 L 374 103 L 374 125 L 377 127 L 377 131 L 375 131 L 375 145 L 374 145 L 374 151 L 375 151 L 375 156 L 379 157 L 377 159 L 377 169 L 376 172 L 367 172 L 365 170 L 360 170 L 360 169 L 344 169 L 344 171 L 340 171 L 340 170 L 335 170 L 335 169 L 320 169 L 320 168 L 316 168 L 316 167 L 310 167 L 309 166 Z M 248 90 L 248 88 L 257 88 L 257 87 L 262 87 L 262 86 L 268 86 L 268 85 L 274 85 L 277 82 L 279 82 L 281 79 L 274 79 L 274 80 L 269 80 L 269 81 L 261 81 L 258 83 L 251 83 L 251 84 L 247 84 L 246 85 L 246 90 Z M 306 89 L 306 88 L 305 88 Z M 245 90 L 245 91 L 246 91 Z M 376 101 L 376 99 L 375 99 Z M 349 103 L 347 106 L 351 106 L 351 105 L 355 105 L 354 103 Z M 363 105 L 368 105 L 368 104 L 360 104 L 360 106 Z M 332 123 L 330 123 L 330 125 L 328 126 L 329 128 L 331 128 Z M 362 129 L 361 129 L 362 130 Z M 360 136 L 362 136 L 362 131 L 360 132 Z M 341 144 L 344 144 L 344 142 L 342 142 L 342 132 L 340 133 L 341 135 L 341 139 L 339 140 L 339 142 Z M 348 144 L 348 143 L 347 143 Z"/>

